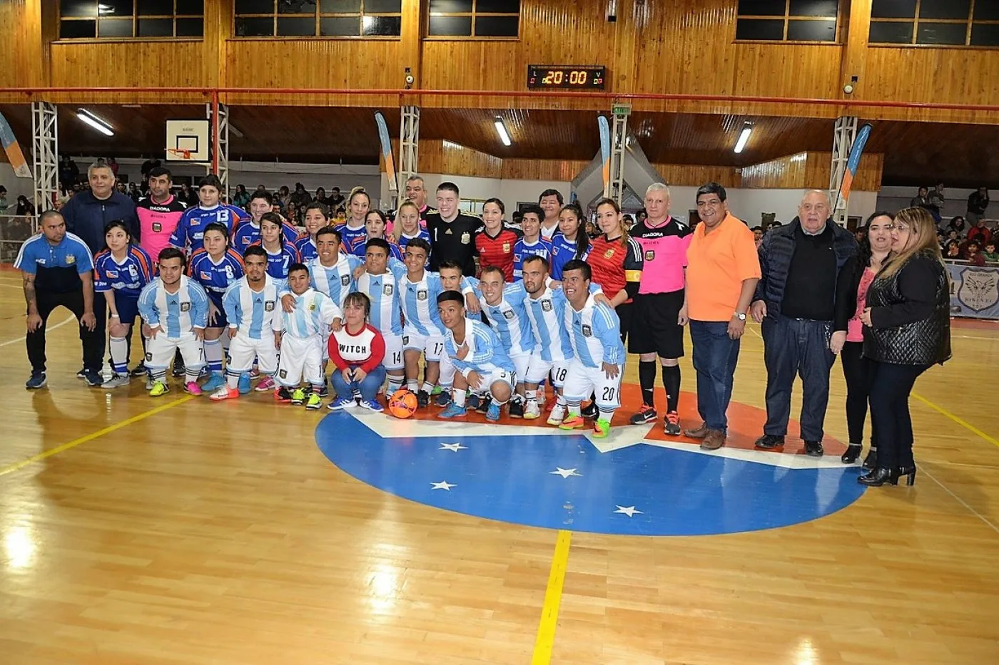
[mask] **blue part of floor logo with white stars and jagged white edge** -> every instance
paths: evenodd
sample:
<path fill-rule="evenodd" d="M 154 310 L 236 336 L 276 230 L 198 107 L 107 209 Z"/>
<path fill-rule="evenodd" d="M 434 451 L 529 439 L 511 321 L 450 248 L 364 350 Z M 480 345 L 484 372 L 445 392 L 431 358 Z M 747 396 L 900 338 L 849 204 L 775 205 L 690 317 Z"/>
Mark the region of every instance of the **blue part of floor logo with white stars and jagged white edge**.
<path fill-rule="evenodd" d="M 426 505 L 527 526 L 629 535 L 710 535 L 789 526 L 863 493 L 838 456 L 606 439 L 557 428 L 400 420 L 338 412 L 317 428 L 323 453 L 355 478 Z"/>

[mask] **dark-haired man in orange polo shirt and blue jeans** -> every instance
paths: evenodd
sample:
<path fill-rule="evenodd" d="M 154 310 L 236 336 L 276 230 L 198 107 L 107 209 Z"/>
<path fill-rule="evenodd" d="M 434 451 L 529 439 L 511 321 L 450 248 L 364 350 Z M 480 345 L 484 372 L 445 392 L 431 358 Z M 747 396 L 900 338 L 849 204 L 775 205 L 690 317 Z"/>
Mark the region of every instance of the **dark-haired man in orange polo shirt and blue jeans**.
<path fill-rule="evenodd" d="M 686 300 L 697 371 L 697 411 L 703 423 L 683 433 L 701 440 L 704 450 L 725 444 L 725 411 L 739 357 L 739 338 L 759 282 L 753 234 L 732 217 L 725 188 L 708 183 L 697 190 L 697 215 L 687 249 Z"/>

